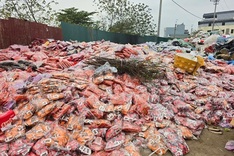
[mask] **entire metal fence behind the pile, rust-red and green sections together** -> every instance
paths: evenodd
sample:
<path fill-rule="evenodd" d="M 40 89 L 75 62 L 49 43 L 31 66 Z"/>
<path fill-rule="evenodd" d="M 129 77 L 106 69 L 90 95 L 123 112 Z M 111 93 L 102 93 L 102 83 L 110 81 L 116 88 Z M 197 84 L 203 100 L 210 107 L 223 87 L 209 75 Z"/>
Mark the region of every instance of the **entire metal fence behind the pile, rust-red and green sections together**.
<path fill-rule="evenodd" d="M 0 49 L 7 48 L 12 44 L 28 45 L 36 38 L 86 42 L 104 39 L 106 41 L 123 44 L 139 44 L 148 41 L 160 42 L 170 39 L 157 36 L 112 33 L 64 22 L 61 23 L 61 27 L 62 29 L 15 18 L 7 20 L 0 19 Z"/>

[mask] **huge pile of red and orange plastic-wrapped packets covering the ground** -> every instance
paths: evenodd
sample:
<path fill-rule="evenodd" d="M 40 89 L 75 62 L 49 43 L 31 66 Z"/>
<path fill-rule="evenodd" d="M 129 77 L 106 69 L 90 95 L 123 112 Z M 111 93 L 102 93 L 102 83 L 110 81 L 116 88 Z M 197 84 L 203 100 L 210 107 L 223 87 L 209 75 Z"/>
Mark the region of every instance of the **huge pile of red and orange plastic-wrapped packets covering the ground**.
<path fill-rule="evenodd" d="M 233 65 L 204 58 L 192 75 L 173 66 L 176 53 L 53 40 L 0 50 L 1 154 L 180 156 L 206 125 L 233 128 Z M 142 82 L 85 63 L 94 56 L 161 61 L 165 75 Z"/>

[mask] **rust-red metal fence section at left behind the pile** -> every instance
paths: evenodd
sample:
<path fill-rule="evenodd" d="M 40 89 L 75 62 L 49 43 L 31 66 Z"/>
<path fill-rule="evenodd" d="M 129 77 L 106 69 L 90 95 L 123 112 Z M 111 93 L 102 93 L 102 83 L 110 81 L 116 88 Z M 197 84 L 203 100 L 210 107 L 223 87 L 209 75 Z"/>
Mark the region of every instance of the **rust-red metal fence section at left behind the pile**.
<path fill-rule="evenodd" d="M 0 49 L 12 44 L 28 45 L 36 38 L 62 40 L 62 30 L 14 18 L 0 19 Z"/>

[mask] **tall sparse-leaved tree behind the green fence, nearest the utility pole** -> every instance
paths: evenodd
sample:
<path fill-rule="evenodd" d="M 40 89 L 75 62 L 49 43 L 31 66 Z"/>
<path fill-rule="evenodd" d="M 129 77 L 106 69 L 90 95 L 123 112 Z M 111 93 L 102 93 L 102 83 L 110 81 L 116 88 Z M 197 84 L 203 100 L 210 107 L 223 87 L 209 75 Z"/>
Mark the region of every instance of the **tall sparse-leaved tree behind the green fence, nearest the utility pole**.
<path fill-rule="evenodd" d="M 128 0 L 94 0 L 111 32 L 152 35 L 156 31 L 151 9 L 144 3 Z"/>

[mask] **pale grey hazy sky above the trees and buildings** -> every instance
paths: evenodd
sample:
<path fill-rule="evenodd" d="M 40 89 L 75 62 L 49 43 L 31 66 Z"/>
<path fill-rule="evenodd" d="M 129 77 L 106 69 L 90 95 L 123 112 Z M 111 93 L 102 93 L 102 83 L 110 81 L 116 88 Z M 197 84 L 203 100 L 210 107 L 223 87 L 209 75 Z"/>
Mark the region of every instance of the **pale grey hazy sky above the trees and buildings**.
<path fill-rule="evenodd" d="M 57 0 L 59 4 L 55 6 L 56 9 L 64 9 L 68 7 L 76 7 L 80 10 L 95 11 L 97 7 L 93 0 Z M 145 3 L 152 9 L 155 23 L 158 24 L 159 3 L 160 0 L 130 0 L 134 3 Z M 202 18 L 204 13 L 214 12 L 213 2 L 210 0 L 174 0 L 186 10 Z M 220 0 L 217 6 L 217 11 L 234 10 L 234 0 Z M 178 7 L 172 0 L 163 0 L 162 4 L 162 18 L 160 36 L 164 35 L 165 27 L 174 27 L 175 23 L 184 23 L 186 29 L 196 30 L 198 21 L 200 19 L 187 13 L 182 8 Z"/>

